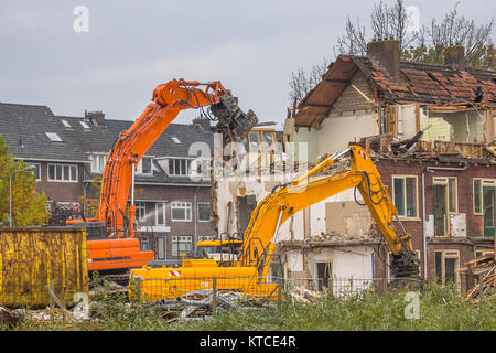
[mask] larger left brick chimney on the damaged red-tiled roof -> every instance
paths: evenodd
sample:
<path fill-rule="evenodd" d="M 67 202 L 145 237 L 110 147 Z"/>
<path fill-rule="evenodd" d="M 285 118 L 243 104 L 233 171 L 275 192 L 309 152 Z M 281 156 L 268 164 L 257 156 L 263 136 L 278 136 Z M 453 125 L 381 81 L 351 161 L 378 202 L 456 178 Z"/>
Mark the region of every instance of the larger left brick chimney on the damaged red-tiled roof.
<path fill-rule="evenodd" d="M 367 43 L 367 56 L 379 66 L 392 82 L 399 82 L 399 41 L 390 38 Z"/>

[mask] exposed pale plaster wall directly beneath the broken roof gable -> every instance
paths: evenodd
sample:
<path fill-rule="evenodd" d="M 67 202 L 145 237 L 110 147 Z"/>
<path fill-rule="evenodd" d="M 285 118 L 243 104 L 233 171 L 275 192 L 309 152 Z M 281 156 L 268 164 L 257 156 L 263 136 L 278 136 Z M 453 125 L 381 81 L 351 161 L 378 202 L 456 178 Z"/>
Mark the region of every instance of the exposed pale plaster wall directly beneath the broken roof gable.
<path fill-rule="evenodd" d="M 319 133 L 319 154 L 339 152 L 351 141 L 379 133 L 376 114 L 349 114 L 327 117 Z"/>

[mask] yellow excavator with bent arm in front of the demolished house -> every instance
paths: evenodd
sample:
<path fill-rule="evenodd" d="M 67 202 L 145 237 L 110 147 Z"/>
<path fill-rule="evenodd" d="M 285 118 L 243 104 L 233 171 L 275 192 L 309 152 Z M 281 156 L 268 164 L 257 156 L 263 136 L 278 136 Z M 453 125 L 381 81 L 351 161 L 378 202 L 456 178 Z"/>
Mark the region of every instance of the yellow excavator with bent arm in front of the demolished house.
<path fill-rule="evenodd" d="M 349 170 L 310 180 L 346 154 L 351 158 Z M 277 298 L 278 285 L 268 282 L 267 275 L 281 225 L 299 211 L 352 188 L 358 189 L 392 254 L 392 277 L 418 278 L 419 261 L 412 250 L 411 234 L 401 225 L 370 156 L 360 146 L 351 145 L 294 181 L 276 186 L 257 205 L 233 266 L 220 266 L 215 259 L 184 259 L 179 268 L 132 269 L 131 282 L 140 284 L 140 296 L 149 301 L 212 289 L 214 278 L 218 290 L 240 291 L 252 299 Z"/>

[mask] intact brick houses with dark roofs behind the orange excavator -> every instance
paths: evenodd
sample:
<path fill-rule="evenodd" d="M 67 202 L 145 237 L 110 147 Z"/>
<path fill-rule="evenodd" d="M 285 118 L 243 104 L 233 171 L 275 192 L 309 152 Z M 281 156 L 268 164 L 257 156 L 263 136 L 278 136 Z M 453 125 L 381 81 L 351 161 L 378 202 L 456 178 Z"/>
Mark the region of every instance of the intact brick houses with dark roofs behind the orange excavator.
<path fill-rule="evenodd" d="M 67 117 L 54 115 L 47 106 L 0 104 L 0 133 L 10 152 L 36 167 L 36 190 L 45 193 L 47 207 L 69 210 L 64 215 L 73 217 L 88 216 L 96 206 L 107 153 L 132 122 L 106 119 L 101 111 Z M 171 124 L 138 165 L 141 247 L 154 250 L 158 261 L 177 261 L 196 242 L 216 237 L 209 178 L 191 174 L 197 159 L 191 147 L 209 150 L 213 141 L 201 122 Z"/>

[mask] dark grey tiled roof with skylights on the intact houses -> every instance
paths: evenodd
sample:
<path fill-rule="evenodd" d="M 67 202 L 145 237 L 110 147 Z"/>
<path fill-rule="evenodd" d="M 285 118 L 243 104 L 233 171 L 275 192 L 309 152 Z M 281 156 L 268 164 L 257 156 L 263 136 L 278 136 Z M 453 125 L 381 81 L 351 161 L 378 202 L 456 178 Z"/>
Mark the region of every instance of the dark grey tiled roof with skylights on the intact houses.
<path fill-rule="evenodd" d="M 25 160 L 89 163 L 89 153 L 107 153 L 119 133 L 132 124 L 131 120 L 106 119 L 105 125 L 98 126 L 84 117 L 55 116 L 46 106 L 0 103 L 0 135 L 10 152 Z M 56 133 L 62 142 L 51 141 L 46 132 Z M 173 138 L 180 143 L 174 142 Z M 155 158 L 195 158 L 190 156 L 190 148 L 195 142 L 204 142 L 212 148 L 214 135 L 198 125 L 170 124 L 147 154 Z M 154 164 L 159 168 L 158 163 Z M 160 174 L 139 176 L 137 181 L 192 182 L 187 176 L 168 178 L 164 173 Z"/>

